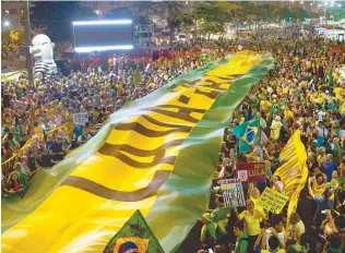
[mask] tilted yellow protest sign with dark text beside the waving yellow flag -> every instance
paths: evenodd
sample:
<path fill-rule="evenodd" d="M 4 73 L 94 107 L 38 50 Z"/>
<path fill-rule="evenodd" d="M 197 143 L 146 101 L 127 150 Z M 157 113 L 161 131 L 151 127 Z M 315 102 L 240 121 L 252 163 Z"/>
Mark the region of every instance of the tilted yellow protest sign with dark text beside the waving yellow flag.
<path fill-rule="evenodd" d="M 274 214 L 281 214 L 287 200 L 288 196 L 283 195 L 282 193 L 276 192 L 270 188 L 265 188 L 258 201 L 258 205 Z"/>

